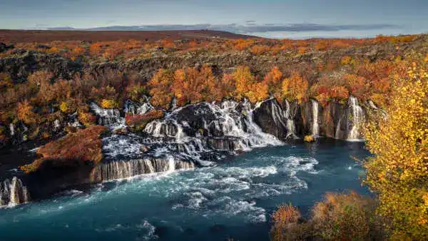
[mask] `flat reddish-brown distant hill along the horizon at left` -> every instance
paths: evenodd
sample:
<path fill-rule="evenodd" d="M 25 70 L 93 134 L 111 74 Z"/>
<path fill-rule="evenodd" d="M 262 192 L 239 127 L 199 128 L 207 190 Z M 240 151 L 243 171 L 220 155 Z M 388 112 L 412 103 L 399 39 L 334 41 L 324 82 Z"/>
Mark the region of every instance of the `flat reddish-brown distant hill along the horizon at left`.
<path fill-rule="evenodd" d="M 69 30 L 0 30 L 0 42 L 29 43 L 51 41 L 118 41 L 136 39 L 158 41 L 160 39 L 248 39 L 255 36 L 233 34 L 227 31 L 183 30 L 183 31 L 69 31 Z"/>

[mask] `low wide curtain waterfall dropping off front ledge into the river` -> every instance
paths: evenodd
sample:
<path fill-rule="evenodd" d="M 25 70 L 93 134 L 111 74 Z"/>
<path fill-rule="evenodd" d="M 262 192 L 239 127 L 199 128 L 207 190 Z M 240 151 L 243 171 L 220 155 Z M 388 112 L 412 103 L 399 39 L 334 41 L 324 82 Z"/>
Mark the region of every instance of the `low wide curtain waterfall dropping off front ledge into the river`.
<path fill-rule="evenodd" d="M 117 180 L 131 178 L 136 175 L 150 173 L 165 173 L 179 169 L 192 169 L 195 165 L 191 162 L 165 158 L 146 158 L 136 160 L 115 160 L 108 163 L 101 163 L 94 168 L 93 180 Z"/>

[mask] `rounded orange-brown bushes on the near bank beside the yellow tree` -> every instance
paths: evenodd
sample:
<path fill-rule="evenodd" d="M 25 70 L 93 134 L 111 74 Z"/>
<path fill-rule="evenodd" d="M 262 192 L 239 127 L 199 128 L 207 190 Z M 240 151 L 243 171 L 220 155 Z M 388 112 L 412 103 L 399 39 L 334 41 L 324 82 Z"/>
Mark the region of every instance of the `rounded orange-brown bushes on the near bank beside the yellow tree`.
<path fill-rule="evenodd" d="M 375 202 L 355 192 L 327 193 L 301 220 L 297 207 L 281 205 L 272 214 L 271 240 L 383 240 Z"/>

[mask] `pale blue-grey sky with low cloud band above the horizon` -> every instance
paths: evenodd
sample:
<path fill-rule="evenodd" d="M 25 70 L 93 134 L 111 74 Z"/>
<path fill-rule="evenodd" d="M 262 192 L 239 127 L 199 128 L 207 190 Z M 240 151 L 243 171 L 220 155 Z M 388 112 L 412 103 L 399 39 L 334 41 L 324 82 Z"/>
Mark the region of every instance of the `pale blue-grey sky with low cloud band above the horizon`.
<path fill-rule="evenodd" d="M 427 0 L 1 0 L 0 29 L 234 24 L 274 38 L 369 37 L 427 33 L 427 14 Z"/>

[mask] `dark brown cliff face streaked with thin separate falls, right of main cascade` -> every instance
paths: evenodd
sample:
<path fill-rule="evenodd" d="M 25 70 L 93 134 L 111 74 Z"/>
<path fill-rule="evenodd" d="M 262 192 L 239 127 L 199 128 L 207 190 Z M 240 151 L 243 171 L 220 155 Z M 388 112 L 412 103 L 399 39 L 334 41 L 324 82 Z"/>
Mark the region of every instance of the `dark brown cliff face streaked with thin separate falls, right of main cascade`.
<path fill-rule="evenodd" d="M 255 122 L 263 131 L 282 140 L 305 135 L 325 136 L 341 140 L 361 140 L 367 108 L 350 96 L 347 104 L 330 102 L 322 107 L 315 100 L 282 105 L 275 99 L 263 102 L 255 109 Z"/>

